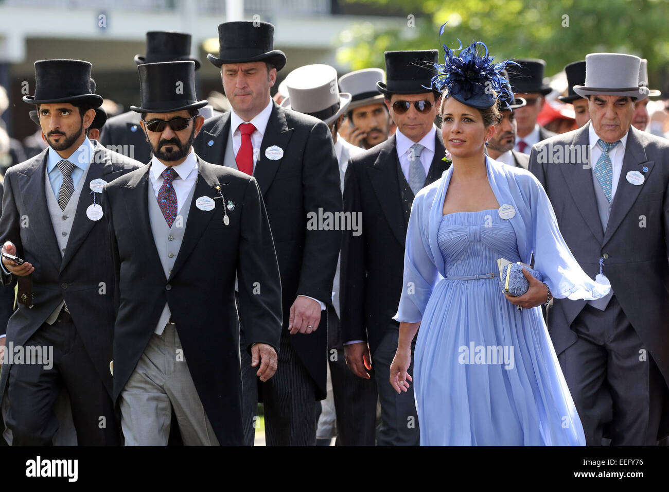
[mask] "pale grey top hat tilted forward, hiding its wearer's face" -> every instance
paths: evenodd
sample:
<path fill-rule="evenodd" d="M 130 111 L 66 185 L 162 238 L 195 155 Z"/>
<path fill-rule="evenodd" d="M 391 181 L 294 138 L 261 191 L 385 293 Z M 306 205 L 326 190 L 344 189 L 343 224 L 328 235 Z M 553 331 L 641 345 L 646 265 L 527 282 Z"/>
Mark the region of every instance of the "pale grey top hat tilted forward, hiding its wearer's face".
<path fill-rule="evenodd" d="M 339 92 L 337 70 L 329 65 L 305 65 L 286 77 L 288 97 L 282 108 L 310 114 L 326 125 L 337 120 L 351 103 L 351 94 Z"/>

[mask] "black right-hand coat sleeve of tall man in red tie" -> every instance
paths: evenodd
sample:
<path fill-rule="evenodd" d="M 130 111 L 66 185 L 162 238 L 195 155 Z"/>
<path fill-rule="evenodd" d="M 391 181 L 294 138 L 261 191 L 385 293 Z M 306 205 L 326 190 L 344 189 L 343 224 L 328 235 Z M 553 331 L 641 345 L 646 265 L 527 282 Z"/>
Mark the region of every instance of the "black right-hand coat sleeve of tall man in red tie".
<path fill-rule="evenodd" d="M 342 212 L 339 164 L 334 153 L 330 130 L 319 121 L 311 129 L 304 148 L 302 196 L 306 214 L 326 217 L 332 224 Z M 328 214 L 329 213 L 329 214 Z M 337 228 L 339 229 L 339 228 Z M 298 295 L 332 303 L 332 282 L 341 246 L 341 230 L 308 228 L 305 233 Z"/>

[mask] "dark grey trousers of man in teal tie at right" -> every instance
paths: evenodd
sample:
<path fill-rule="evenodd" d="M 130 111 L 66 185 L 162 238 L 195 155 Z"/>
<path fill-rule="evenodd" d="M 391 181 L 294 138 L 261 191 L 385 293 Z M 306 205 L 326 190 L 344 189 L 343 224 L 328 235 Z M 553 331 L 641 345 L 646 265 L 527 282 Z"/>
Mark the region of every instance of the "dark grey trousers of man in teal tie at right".
<path fill-rule="evenodd" d="M 557 358 L 586 444 L 656 445 L 666 383 L 615 295 L 605 311 L 586 305 L 571 328 L 579 339 Z"/>

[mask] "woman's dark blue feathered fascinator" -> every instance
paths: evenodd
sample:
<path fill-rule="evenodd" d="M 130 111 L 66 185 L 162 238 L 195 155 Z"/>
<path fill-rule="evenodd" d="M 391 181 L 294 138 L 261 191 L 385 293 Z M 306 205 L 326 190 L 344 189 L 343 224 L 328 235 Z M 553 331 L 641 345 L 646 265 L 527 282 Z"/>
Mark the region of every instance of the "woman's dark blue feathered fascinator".
<path fill-rule="evenodd" d="M 439 30 L 440 38 L 445 26 L 446 23 Z M 432 88 L 439 92 L 447 90 L 449 96 L 462 104 L 478 109 L 490 108 L 501 98 L 500 102 L 510 110 L 508 102 L 513 100 L 513 92 L 501 72 L 508 65 L 518 64 L 511 60 L 492 62 L 495 57 L 488 56 L 488 47 L 483 42 L 474 42 L 464 50 L 460 39 L 458 43 L 460 47 L 456 50 L 442 45 L 444 63 L 434 65 L 437 75 L 432 78 Z M 485 51 L 482 55 L 479 46 Z M 455 52 L 459 51 L 460 56 L 456 56 Z"/>

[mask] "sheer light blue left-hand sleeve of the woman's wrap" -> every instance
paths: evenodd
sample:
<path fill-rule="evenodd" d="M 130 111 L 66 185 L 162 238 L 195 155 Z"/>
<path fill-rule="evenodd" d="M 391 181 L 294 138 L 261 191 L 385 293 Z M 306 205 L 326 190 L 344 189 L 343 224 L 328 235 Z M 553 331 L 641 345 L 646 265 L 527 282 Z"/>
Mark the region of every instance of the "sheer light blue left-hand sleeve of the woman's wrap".
<path fill-rule="evenodd" d="M 407 240 L 404 250 L 404 280 L 395 321 L 417 323 L 423 319 L 427 301 L 439 278 L 437 266 L 429 255 L 427 235 L 432 201 L 419 192 L 411 206 Z M 436 240 L 436 238 L 435 238 Z"/>

